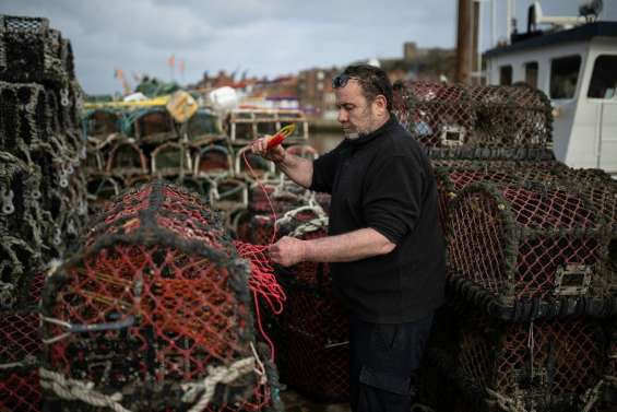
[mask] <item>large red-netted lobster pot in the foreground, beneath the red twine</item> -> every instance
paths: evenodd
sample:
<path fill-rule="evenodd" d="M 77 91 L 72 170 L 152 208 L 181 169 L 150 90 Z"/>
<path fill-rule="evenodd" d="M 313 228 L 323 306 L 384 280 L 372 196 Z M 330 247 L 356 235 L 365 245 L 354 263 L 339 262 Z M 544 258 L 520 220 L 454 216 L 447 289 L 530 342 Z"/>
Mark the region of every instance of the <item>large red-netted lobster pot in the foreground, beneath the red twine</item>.
<path fill-rule="evenodd" d="M 155 181 L 116 198 L 48 278 L 46 396 L 62 410 L 258 411 L 249 264 L 197 195 Z M 87 387 L 86 396 L 73 396 Z"/>

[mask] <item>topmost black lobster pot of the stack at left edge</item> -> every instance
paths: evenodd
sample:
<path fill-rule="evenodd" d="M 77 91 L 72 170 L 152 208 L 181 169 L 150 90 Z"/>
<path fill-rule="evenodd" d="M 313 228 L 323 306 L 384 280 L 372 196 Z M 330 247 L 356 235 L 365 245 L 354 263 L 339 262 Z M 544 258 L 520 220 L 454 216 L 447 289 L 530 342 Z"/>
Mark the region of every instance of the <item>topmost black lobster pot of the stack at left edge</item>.
<path fill-rule="evenodd" d="M 67 49 L 47 19 L 0 15 L 0 80 L 66 83 L 74 74 Z"/>

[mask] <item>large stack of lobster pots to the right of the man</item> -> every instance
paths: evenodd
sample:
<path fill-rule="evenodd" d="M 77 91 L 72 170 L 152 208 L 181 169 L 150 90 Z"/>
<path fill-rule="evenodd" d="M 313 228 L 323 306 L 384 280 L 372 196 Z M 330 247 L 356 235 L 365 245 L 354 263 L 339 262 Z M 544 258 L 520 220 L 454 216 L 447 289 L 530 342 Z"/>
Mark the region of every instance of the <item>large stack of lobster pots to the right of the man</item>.
<path fill-rule="evenodd" d="M 539 91 L 396 92 L 400 120 L 434 164 L 448 243 L 449 299 L 428 364 L 477 411 L 601 410 L 617 313 L 615 184 L 555 161 Z"/>

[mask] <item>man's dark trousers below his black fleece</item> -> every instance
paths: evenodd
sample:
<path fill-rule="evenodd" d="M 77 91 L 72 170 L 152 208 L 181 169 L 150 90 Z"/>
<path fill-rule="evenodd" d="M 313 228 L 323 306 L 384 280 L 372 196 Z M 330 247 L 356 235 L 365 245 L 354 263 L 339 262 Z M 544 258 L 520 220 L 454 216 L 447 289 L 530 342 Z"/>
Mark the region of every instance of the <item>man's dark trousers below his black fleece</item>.
<path fill-rule="evenodd" d="M 414 374 L 431 323 L 432 314 L 406 323 L 370 323 L 351 316 L 353 412 L 410 412 Z"/>

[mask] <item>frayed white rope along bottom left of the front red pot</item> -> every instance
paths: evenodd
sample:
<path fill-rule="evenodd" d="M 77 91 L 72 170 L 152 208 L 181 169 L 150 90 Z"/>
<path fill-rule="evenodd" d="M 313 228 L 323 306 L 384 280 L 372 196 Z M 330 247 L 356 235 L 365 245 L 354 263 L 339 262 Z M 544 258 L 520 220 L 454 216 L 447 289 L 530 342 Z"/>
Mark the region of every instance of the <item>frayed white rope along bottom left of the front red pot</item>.
<path fill-rule="evenodd" d="M 94 389 L 94 382 L 85 382 L 76 379 L 68 379 L 64 376 L 47 370 L 38 369 L 40 386 L 56 392 L 60 398 L 67 400 L 80 400 L 98 408 L 109 408 L 115 412 L 131 412 L 120 404 L 122 393 L 104 395 Z"/>

